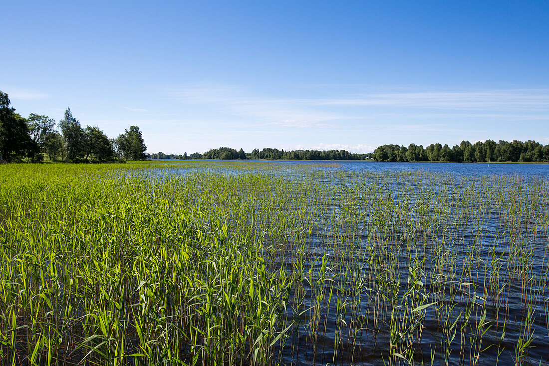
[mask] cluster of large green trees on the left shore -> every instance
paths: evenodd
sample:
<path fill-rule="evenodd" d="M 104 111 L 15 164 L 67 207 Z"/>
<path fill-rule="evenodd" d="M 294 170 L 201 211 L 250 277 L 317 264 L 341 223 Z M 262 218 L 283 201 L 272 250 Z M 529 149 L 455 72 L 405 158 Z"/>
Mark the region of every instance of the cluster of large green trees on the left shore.
<path fill-rule="evenodd" d="M 0 162 L 111 162 L 144 160 L 145 143 L 139 127 L 108 138 L 97 126 L 82 128 L 70 108 L 57 124 L 47 115 L 15 113 L 7 93 L 0 91 Z"/>

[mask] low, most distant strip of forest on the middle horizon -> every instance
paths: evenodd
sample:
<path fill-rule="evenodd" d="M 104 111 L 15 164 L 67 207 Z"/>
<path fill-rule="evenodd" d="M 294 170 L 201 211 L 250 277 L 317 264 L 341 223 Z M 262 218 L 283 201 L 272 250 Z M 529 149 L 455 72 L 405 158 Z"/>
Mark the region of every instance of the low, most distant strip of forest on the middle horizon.
<path fill-rule="evenodd" d="M 251 152 L 244 152 L 243 149 L 228 147 L 220 147 L 219 149 L 211 149 L 204 154 L 193 153 L 187 155 L 164 154 L 162 152 L 150 154 L 150 159 L 219 159 L 219 160 L 365 160 L 372 159 L 372 153 L 354 154 L 346 150 L 293 150 L 284 151 L 273 148 L 253 149 Z"/>

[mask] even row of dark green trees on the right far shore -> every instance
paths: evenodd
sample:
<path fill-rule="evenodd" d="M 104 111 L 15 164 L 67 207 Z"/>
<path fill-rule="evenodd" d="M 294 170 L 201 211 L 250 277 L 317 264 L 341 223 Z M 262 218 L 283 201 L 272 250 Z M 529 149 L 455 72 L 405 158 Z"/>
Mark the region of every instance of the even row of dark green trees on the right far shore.
<path fill-rule="evenodd" d="M 530 140 L 462 141 L 451 148 L 440 143 L 432 143 L 427 148 L 413 143 L 408 147 L 383 145 L 374 150 L 373 159 L 377 162 L 549 162 L 549 145 Z"/>

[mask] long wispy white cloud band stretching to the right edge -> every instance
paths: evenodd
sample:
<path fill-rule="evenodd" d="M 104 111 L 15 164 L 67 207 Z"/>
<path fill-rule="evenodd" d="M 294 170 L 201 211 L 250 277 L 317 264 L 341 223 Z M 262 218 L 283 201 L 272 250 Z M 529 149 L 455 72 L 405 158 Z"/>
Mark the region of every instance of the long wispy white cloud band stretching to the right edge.
<path fill-rule="evenodd" d="M 372 90 L 372 86 L 368 87 Z M 331 95 L 327 98 L 258 96 L 243 86 L 198 82 L 167 88 L 166 95 L 181 103 L 203 104 L 223 114 L 265 124 L 293 127 L 334 127 L 352 120 L 397 118 L 497 118 L 505 121 L 549 120 L 548 89 L 422 91 L 395 87 L 397 92 Z M 318 93 L 318 91 L 313 91 Z M 330 92 L 329 88 L 326 91 Z M 439 131 L 442 125 L 406 128 Z M 396 127 L 393 127 L 396 128 Z M 400 128 L 400 127 L 399 127 Z"/>

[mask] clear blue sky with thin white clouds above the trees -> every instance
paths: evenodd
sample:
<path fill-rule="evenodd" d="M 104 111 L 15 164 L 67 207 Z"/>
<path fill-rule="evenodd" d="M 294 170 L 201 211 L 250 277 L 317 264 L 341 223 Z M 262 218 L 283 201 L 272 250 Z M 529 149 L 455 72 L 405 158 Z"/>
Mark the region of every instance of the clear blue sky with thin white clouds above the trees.
<path fill-rule="evenodd" d="M 11 1 L 16 112 L 147 152 L 549 143 L 547 1 Z"/>

